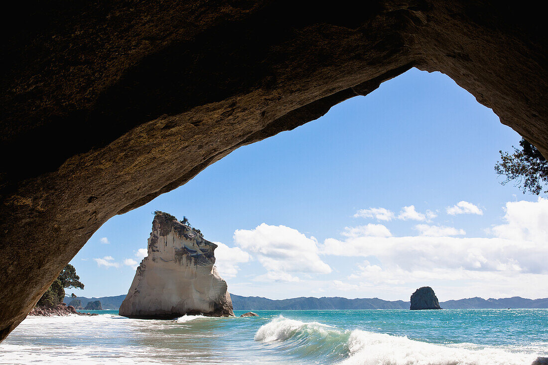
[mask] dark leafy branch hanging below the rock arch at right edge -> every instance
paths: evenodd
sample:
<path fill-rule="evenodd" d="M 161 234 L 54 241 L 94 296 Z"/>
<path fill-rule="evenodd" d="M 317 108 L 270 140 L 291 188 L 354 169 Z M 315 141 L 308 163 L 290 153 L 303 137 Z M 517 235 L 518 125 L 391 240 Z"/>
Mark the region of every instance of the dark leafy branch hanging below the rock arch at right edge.
<path fill-rule="evenodd" d="M 505 176 L 501 184 L 506 185 L 510 181 L 516 181 L 517 187 L 525 193 L 529 191 L 539 195 L 543 185 L 548 183 L 548 161 L 525 139 L 520 141 L 521 150 L 512 146 L 514 153 L 500 152 L 500 160 L 495 164 L 495 172 Z M 545 193 L 548 190 L 544 191 Z"/>

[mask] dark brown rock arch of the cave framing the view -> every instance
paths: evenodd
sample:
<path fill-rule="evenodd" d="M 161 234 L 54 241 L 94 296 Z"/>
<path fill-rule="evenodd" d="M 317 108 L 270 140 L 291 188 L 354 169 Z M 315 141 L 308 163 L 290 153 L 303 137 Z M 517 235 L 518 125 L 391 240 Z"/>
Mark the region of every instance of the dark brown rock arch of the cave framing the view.
<path fill-rule="evenodd" d="M 0 78 L 0 339 L 111 216 L 410 67 L 447 73 L 548 157 L 546 21 L 521 3 L 17 4 Z"/>

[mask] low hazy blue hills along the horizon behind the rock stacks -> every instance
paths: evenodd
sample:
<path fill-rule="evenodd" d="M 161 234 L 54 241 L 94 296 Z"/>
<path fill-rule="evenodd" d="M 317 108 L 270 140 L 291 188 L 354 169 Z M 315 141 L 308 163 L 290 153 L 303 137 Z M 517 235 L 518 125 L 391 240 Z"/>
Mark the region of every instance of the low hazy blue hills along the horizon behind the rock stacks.
<path fill-rule="evenodd" d="M 409 309 L 410 303 L 403 300 L 383 300 L 379 298 L 347 299 L 335 297 L 315 298 L 313 296 L 273 300 L 261 296 L 241 296 L 230 294 L 234 310 L 352 310 L 352 309 Z M 101 301 L 102 309 L 118 309 L 122 305 L 125 294 L 117 296 L 102 296 L 101 298 L 65 297 L 65 303 L 78 299 L 85 307 L 90 301 Z M 548 298 L 525 299 L 521 296 L 501 299 L 467 298 L 442 301 L 443 309 L 503 309 L 503 308 L 548 308 Z"/>

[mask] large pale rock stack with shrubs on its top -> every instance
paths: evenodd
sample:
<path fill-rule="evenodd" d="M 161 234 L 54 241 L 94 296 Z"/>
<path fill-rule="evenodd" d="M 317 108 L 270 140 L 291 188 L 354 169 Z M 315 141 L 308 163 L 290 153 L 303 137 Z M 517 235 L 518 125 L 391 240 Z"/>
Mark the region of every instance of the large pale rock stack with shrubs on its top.
<path fill-rule="evenodd" d="M 226 282 L 213 266 L 216 247 L 173 215 L 156 212 L 149 255 L 137 268 L 120 315 L 160 319 L 233 316 Z"/>

